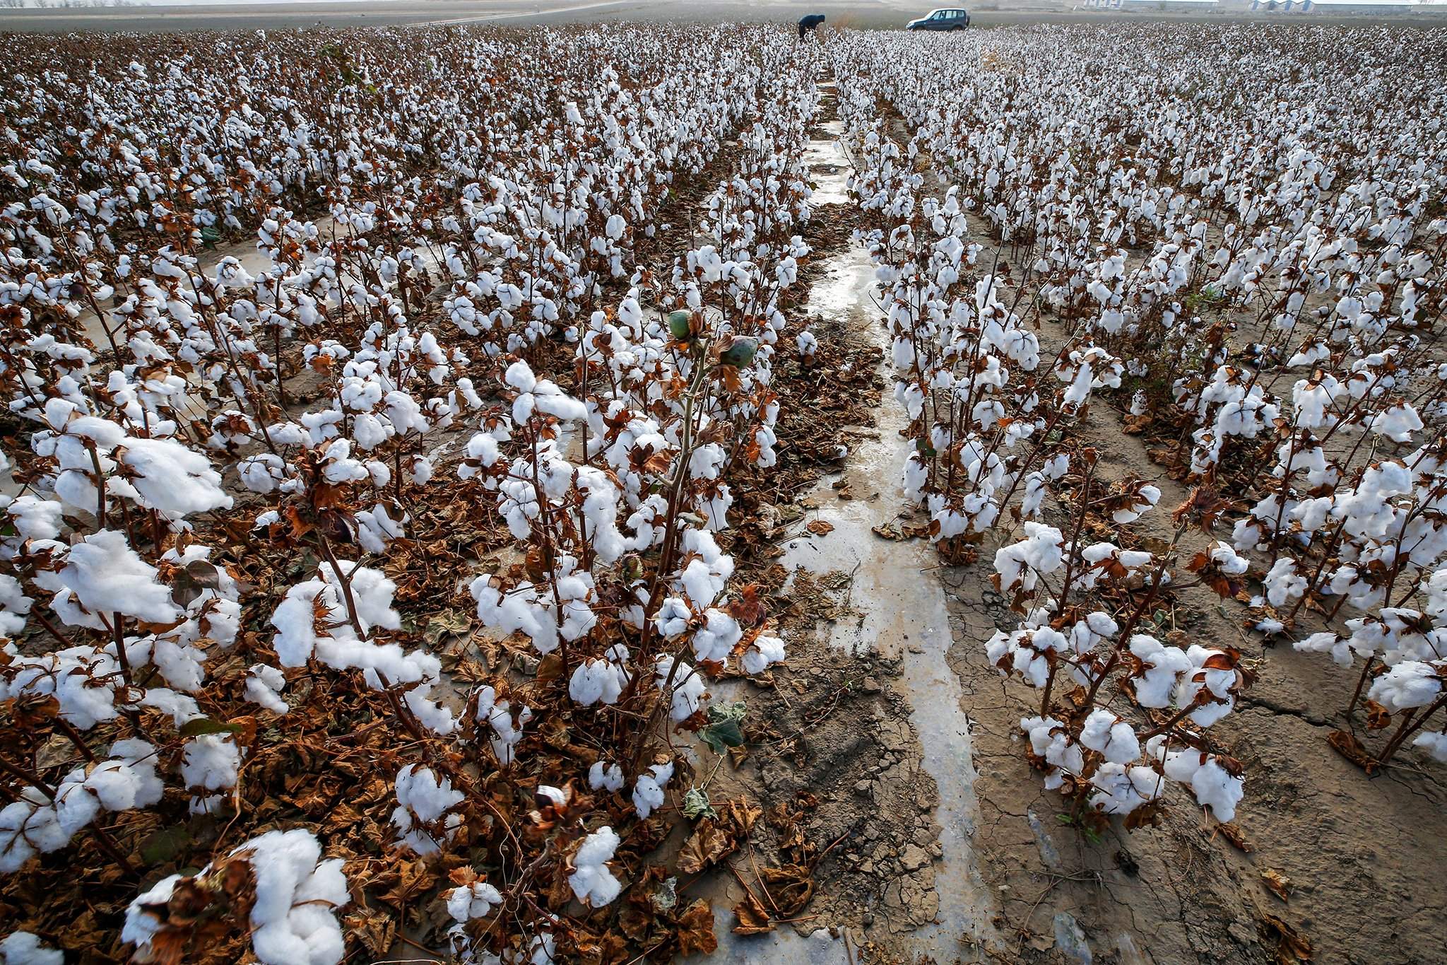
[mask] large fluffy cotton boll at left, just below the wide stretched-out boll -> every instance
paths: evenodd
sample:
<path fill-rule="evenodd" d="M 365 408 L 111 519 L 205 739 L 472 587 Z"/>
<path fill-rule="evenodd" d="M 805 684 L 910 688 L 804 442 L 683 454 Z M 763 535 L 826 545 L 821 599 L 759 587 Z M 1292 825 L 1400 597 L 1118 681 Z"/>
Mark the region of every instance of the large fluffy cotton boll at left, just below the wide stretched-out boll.
<path fill-rule="evenodd" d="M 117 530 L 93 532 L 71 547 L 59 580 L 91 613 L 122 613 L 150 624 L 171 624 L 181 611 L 153 566 Z"/>

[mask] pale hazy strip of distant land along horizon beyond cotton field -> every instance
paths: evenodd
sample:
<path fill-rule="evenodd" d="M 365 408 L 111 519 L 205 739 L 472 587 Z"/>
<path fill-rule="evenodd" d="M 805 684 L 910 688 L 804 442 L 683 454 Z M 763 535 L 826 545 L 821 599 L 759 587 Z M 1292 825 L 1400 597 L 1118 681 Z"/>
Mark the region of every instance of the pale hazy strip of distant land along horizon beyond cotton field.
<path fill-rule="evenodd" d="M 943 0 L 936 0 L 942 3 Z M 1009 3 L 1009 0 L 1000 0 Z M 69 7 L 56 10 L 0 10 L 0 32 L 42 30 L 52 33 L 87 30 L 279 30 L 313 26 L 395 26 L 408 23 L 602 23 L 618 20 L 780 20 L 794 22 L 805 13 L 825 13 L 832 23 L 857 27 L 901 27 L 930 3 L 909 0 L 341 0 L 318 3 L 204 3 L 192 6 Z M 1294 23 L 1392 23 L 1399 26 L 1447 26 L 1444 14 L 1276 14 L 1230 13 L 1123 13 L 1069 10 L 1065 4 L 983 10 L 971 7 L 974 25 L 1007 23 L 1132 23 L 1137 20 L 1294 22 Z"/>

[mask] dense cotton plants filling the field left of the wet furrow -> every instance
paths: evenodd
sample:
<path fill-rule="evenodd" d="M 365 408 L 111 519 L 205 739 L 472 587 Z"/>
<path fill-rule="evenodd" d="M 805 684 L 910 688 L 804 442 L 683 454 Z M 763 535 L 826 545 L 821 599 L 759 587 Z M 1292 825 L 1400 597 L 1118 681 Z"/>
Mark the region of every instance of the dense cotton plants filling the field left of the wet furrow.
<path fill-rule="evenodd" d="M 680 43 L 697 69 L 663 67 Z M 0 871 L 87 836 L 146 881 L 117 927 L 137 961 L 226 927 L 263 962 L 340 961 L 355 894 L 326 836 L 155 881 L 116 820 L 249 822 L 247 768 L 320 687 L 404 747 L 389 855 L 491 835 L 443 896 L 451 949 L 572 953 L 538 870 L 585 914 L 615 901 L 619 835 L 682 794 L 666 731 L 708 722 L 725 668 L 784 660 L 718 534 L 776 460 L 813 54 L 757 27 L 119 45 L 119 67 L 64 55 L 103 80 L 82 87 L 36 41 L 0 122 Z M 703 204 L 676 204 L 706 168 Z M 460 590 L 538 660 L 469 687 L 399 609 L 440 486 L 531 547 Z M 250 586 L 203 532 L 291 564 Z M 538 784 L 528 748 L 564 726 L 603 752 Z M 65 767 L 32 752 L 56 742 Z M 534 796 L 527 830 L 499 819 Z"/>

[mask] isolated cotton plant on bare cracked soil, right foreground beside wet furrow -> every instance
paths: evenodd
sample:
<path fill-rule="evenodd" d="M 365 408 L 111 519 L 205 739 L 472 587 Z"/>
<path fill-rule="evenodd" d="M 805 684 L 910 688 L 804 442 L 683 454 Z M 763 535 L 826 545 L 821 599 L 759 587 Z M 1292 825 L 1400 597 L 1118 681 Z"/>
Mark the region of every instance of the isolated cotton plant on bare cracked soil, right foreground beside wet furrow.
<path fill-rule="evenodd" d="M 1085 460 L 1092 469 L 1091 454 Z M 1088 488 L 1087 473 L 1081 492 Z M 1078 501 L 1075 514 L 1084 516 L 1084 501 Z M 1153 499 L 1127 488 L 1097 502 L 1103 511 L 1126 506 L 1116 512 L 1134 518 Z M 1072 532 L 1079 534 L 1079 527 Z M 1184 784 L 1223 822 L 1234 817 L 1244 794 L 1240 762 L 1213 749 L 1205 734 L 1234 709 L 1250 681 L 1240 654 L 1181 647 L 1139 632 L 1155 629 L 1142 618 L 1168 583 L 1166 564 L 1168 557 L 1084 544 L 1078 535 L 1033 522 L 1026 524 L 1023 540 L 996 553 L 993 579 L 1024 619 L 1019 629 L 997 631 L 985 650 L 1001 673 L 1042 693 L 1039 715 L 1023 718 L 1020 729 L 1029 738 L 1032 762 L 1046 773 L 1046 788 L 1074 800 L 1072 820 L 1082 826 L 1110 816 L 1121 816 L 1129 828 L 1153 823 L 1165 804 L 1166 778 Z M 1188 569 L 1229 596 L 1246 564 L 1229 544 L 1217 543 Z M 1143 583 L 1140 602 L 1114 613 L 1097 609 L 1130 583 Z M 1101 596 L 1107 590 L 1113 592 Z M 1084 696 L 1062 705 L 1052 697 L 1058 683 Z M 1155 713 L 1145 731 L 1100 705 L 1111 689 Z"/>

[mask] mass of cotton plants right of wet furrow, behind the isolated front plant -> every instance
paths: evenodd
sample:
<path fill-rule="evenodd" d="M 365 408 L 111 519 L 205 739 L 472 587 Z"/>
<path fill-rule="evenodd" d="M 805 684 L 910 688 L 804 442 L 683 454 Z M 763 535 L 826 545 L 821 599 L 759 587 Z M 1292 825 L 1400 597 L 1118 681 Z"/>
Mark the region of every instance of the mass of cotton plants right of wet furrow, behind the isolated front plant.
<path fill-rule="evenodd" d="M 913 420 L 906 492 L 936 540 L 1036 516 L 1058 479 L 1049 440 L 1068 438 L 1094 392 L 1239 501 L 1220 545 L 1243 554 L 1233 580 L 1259 582 L 1263 612 L 1247 622 L 1350 668 L 1349 726 L 1365 702 L 1370 729 L 1393 728 L 1360 760 L 1389 761 L 1409 738 L 1438 755 L 1443 654 L 1415 598 L 1447 550 L 1433 339 L 1447 169 L 1422 148 L 1440 65 L 1402 74 L 1425 114 L 1383 116 L 1331 71 L 1243 109 L 1220 74 L 1195 80 L 1192 30 L 975 35 L 949 56 L 942 41 L 855 36 L 835 51 Z M 1380 42 L 1237 39 L 1247 65 Z M 946 88 L 967 94 L 935 94 Z M 1299 111 L 1323 123 L 1302 127 Z M 1344 149 L 1363 123 L 1382 124 L 1375 148 Z M 1011 354 L 1040 323 L 1058 326 L 1053 366 Z M 1036 366 L 1066 394 L 1046 392 Z"/>

